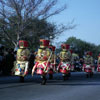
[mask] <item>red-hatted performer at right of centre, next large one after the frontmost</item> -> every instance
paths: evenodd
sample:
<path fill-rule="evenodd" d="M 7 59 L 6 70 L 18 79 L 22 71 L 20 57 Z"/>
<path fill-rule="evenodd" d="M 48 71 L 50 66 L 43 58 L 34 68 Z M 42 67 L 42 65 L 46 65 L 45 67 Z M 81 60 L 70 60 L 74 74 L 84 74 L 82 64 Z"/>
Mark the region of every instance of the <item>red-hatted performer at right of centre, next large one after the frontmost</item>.
<path fill-rule="evenodd" d="M 62 44 L 62 51 L 60 52 L 60 63 L 57 70 L 63 73 L 64 80 L 70 76 L 70 67 L 71 67 L 71 52 L 69 51 L 70 45 Z M 65 71 L 62 70 L 65 68 Z"/>

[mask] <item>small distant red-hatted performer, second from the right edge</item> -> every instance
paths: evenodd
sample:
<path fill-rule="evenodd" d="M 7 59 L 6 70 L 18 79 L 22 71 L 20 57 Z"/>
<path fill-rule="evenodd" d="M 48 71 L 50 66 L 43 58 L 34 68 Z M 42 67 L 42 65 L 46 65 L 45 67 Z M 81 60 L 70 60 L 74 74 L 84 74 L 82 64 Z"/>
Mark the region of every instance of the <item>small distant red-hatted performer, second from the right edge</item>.
<path fill-rule="evenodd" d="M 87 77 L 92 77 L 94 72 L 94 65 L 93 65 L 93 57 L 92 52 L 88 51 L 86 53 L 86 57 L 84 58 L 84 64 L 83 64 L 83 71 L 85 71 L 87 74 Z"/>

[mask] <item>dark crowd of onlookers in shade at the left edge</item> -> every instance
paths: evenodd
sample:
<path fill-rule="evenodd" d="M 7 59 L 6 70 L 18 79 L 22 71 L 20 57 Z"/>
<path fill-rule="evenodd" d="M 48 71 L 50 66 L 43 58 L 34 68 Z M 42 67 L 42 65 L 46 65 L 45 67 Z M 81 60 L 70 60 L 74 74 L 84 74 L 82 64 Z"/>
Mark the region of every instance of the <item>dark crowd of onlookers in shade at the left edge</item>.
<path fill-rule="evenodd" d="M 3 75 L 11 74 L 13 62 L 15 61 L 15 52 L 13 49 L 0 48 L 0 73 Z"/>

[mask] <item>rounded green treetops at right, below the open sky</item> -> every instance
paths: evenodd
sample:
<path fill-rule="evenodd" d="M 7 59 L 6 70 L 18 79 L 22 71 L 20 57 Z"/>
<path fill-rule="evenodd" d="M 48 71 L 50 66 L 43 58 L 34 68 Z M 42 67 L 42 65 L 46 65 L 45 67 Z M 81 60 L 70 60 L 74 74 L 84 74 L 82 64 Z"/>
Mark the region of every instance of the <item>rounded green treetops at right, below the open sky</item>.
<path fill-rule="evenodd" d="M 96 46 L 95 44 L 88 43 L 86 41 L 77 39 L 76 37 L 70 37 L 66 41 L 66 43 L 70 44 L 71 49 L 78 53 L 79 56 L 83 56 L 87 51 L 91 51 L 93 53 L 93 57 L 97 58 L 100 52 L 100 45 Z"/>

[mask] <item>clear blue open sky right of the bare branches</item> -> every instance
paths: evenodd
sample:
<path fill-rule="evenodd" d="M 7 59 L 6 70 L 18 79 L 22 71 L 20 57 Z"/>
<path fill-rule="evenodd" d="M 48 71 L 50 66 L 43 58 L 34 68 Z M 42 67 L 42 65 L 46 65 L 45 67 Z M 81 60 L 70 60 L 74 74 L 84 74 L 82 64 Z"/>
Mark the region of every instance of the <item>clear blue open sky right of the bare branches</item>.
<path fill-rule="evenodd" d="M 50 18 L 51 22 L 67 25 L 74 19 L 76 27 L 65 31 L 56 42 L 69 37 L 100 45 L 100 0 L 59 0 L 58 7 L 67 4 L 67 9 Z"/>

